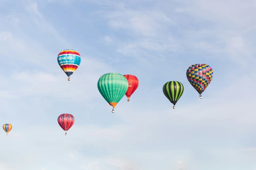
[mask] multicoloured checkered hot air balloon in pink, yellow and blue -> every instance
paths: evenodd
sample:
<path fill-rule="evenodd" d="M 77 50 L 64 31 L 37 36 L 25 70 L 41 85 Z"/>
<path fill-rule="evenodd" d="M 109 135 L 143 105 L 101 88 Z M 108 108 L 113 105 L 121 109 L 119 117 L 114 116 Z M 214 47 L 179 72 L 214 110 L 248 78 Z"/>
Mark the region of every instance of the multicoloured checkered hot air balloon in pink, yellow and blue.
<path fill-rule="evenodd" d="M 202 97 L 202 92 L 208 87 L 213 78 L 213 69 L 207 64 L 194 64 L 187 69 L 187 79 L 190 84 L 199 93 L 199 98 Z"/>

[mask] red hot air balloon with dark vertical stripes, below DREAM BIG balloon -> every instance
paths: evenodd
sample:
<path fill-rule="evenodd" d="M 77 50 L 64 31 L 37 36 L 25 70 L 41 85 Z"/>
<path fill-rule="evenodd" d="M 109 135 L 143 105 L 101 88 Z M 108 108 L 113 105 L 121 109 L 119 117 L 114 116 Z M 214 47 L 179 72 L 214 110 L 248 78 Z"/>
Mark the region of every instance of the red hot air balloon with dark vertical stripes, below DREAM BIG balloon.
<path fill-rule="evenodd" d="M 64 113 L 58 117 L 58 123 L 64 131 L 68 131 L 73 126 L 75 118 L 73 115 Z M 65 133 L 67 135 L 67 132 Z"/>

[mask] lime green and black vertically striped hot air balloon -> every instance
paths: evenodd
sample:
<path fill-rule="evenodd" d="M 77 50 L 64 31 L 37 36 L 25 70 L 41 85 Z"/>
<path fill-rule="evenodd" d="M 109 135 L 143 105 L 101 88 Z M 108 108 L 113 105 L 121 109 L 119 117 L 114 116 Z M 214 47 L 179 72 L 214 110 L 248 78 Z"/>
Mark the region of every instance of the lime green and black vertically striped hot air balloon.
<path fill-rule="evenodd" d="M 165 97 L 174 105 L 178 102 L 184 91 L 183 85 L 179 81 L 169 81 L 163 85 Z"/>

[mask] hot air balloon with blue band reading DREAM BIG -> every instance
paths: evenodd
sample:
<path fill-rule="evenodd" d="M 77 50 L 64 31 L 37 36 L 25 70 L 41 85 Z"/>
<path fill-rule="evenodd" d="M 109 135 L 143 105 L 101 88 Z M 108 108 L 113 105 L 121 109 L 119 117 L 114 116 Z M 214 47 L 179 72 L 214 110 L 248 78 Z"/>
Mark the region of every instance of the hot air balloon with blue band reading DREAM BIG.
<path fill-rule="evenodd" d="M 60 68 L 70 77 L 78 68 L 81 63 L 80 54 L 75 50 L 63 50 L 57 57 Z"/>

